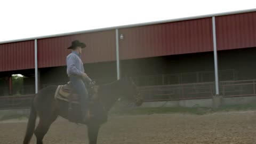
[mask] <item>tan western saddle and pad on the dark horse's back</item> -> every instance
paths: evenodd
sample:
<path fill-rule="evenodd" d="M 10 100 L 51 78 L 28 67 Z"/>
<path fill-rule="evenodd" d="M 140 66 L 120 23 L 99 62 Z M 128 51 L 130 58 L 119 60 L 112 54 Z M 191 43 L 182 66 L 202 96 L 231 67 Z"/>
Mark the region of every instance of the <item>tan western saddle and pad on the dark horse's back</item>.
<path fill-rule="evenodd" d="M 99 86 L 87 86 L 87 90 L 89 91 L 89 99 L 90 101 L 94 101 L 98 99 L 98 89 Z M 73 86 L 70 82 L 65 85 L 58 85 L 57 90 L 55 91 L 54 98 L 67 101 L 69 103 L 80 103 L 81 95 L 77 94 L 73 89 Z"/>

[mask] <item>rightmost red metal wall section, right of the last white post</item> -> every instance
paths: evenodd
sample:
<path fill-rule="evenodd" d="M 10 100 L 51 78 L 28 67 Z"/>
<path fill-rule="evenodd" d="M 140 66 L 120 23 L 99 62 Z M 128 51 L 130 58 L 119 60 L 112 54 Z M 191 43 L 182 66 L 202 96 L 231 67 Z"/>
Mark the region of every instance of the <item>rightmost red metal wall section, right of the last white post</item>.
<path fill-rule="evenodd" d="M 256 12 L 216 17 L 218 50 L 256 47 Z"/>

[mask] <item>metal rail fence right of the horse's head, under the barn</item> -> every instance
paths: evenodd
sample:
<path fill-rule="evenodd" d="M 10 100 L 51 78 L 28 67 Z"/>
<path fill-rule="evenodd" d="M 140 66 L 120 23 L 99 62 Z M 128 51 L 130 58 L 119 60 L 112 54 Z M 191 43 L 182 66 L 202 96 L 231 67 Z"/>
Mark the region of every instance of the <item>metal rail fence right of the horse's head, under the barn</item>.
<path fill-rule="evenodd" d="M 256 80 L 220 82 L 220 94 L 224 98 L 256 96 Z M 145 101 L 172 101 L 212 98 L 214 82 L 139 87 Z"/>

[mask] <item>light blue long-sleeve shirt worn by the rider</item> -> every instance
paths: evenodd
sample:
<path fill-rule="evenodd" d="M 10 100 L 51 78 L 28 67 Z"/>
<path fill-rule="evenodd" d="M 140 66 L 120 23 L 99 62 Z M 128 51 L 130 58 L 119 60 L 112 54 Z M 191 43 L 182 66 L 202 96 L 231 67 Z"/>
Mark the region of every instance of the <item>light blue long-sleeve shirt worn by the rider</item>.
<path fill-rule="evenodd" d="M 72 51 L 66 58 L 67 62 L 67 75 L 82 77 L 84 73 L 83 61 L 76 51 Z"/>

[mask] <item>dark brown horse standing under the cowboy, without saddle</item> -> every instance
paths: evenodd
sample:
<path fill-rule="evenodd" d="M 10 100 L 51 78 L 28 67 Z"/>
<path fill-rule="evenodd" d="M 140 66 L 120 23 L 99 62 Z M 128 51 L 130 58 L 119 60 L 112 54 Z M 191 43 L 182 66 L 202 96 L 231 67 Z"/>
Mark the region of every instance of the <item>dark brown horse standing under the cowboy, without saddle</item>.
<path fill-rule="evenodd" d="M 70 120 L 68 113 L 68 102 L 54 98 L 57 86 L 48 86 L 40 90 L 33 99 L 30 116 L 28 119 L 27 131 L 23 144 L 30 142 L 33 133 L 36 136 L 37 144 L 43 143 L 44 135 L 50 128 L 50 125 L 58 116 Z M 82 123 L 79 104 L 74 104 L 71 122 L 87 125 L 90 144 L 97 143 L 98 131 L 100 125 L 107 121 L 107 113 L 114 106 L 120 97 L 135 100 L 137 88 L 132 81 L 121 79 L 110 84 L 100 85 L 98 89 L 99 100 L 90 105 L 90 111 L 94 115 L 88 123 Z M 135 97 L 134 97 L 135 96 Z M 134 101 L 135 102 L 135 101 Z M 39 117 L 39 123 L 35 129 L 36 118 Z"/>

